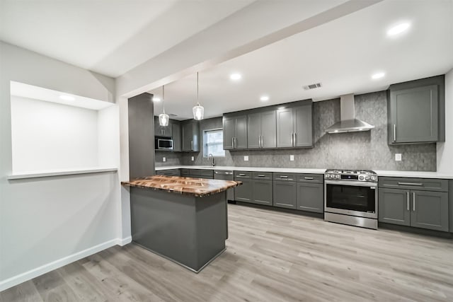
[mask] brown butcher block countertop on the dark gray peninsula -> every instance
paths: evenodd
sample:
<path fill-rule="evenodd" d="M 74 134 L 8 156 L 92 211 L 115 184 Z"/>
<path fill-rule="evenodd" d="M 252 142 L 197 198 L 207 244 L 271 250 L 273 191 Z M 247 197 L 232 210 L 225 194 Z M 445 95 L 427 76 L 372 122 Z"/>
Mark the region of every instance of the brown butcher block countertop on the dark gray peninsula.
<path fill-rule="evenodd" d="M 130 187 L 143 187 L 151 190 L 186 194 L 194 197 L 205 197 L 226 191 L 230 187 L 241 185 L 240 181 L 233 180 L 207 180 L 203 178 L 183 178 L 180 176 L 153 175 L 121 182 L 121 185 Z"/>

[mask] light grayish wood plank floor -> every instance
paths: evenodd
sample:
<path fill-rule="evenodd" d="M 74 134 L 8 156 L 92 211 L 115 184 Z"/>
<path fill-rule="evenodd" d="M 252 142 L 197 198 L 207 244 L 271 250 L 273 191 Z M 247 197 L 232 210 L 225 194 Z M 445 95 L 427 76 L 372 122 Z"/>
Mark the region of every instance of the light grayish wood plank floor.
<path fill-rule="evenodd" d="M 453 301 L 453 240 L 229 205 L 227 250 L 200 274 L 113 247 L 1 301 Z"/>

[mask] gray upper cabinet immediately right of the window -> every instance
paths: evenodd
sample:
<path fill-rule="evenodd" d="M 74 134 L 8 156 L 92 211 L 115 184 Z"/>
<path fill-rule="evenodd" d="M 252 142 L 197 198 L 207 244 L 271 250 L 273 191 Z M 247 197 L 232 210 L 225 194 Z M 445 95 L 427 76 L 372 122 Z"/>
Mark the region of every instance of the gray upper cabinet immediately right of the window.
<path fill-rule="evenodd" d="M 224 149 L 247 149 L 247 115 L 224 115 Z"/>

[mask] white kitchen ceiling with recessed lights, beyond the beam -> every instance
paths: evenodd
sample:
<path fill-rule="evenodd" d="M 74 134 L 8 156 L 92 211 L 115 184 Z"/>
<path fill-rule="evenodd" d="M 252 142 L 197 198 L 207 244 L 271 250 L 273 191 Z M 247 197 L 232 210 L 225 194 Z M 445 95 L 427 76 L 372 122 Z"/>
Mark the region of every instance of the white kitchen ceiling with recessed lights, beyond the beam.
<path fill-rule="evenodd" d="M 382 91 L 391 83 L 445 74 L 453 68 L 452 16 L 451 0 L 386 0 L 200 71 L 205 117 Z M 386 30 L 402 21 L 411 22 L 409 30 L 388 37 Z M 231 81 L 233 72 L 242 79 Z M 377 72 L 384 78 L 373 80 Z M 303 88 L 319 82 L 321 88 Z M 179 120 L 191 118 L 196 91 L 196 74 L 167 84 L 166 112 Z M 161 96 L 161 88 L 149 92 Z M 268 95 L 268 102 L 261 102 L 261 95 Z M 161 103 L 154 107 L 159 114 Z"/>

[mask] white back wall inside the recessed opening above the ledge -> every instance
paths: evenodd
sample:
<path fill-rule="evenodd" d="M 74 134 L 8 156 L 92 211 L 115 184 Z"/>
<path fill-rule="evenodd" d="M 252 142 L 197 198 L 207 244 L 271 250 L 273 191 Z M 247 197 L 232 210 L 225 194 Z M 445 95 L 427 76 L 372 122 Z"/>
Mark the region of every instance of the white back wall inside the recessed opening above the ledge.
<path fill-rule="evenodd" d="M 98 111 L 11 96 L 13 173 L 98 167 Z"/>

